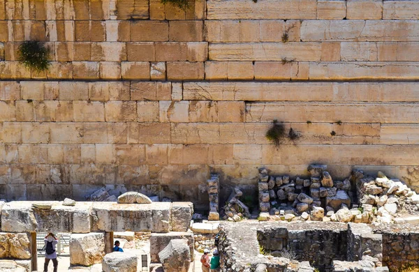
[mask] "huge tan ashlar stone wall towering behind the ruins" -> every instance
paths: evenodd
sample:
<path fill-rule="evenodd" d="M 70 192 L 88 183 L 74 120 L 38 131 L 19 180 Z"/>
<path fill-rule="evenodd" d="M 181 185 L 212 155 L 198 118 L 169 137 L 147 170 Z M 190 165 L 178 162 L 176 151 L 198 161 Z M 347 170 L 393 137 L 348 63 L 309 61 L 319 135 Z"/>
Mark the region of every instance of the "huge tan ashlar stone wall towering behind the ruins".
<path fill-rule="evenodd" d="M 258 166 L 418 185 L 419 1 L 0 0 L 0 197 L 205 202 Z M 17 60 L 52 50 L 47 73 Z M 300 133 L 279 149 L 272 120 Z M 308 174 L 308 173 L 307 173 Z M 205 193 L 203 194 L 205 195 Z"/>

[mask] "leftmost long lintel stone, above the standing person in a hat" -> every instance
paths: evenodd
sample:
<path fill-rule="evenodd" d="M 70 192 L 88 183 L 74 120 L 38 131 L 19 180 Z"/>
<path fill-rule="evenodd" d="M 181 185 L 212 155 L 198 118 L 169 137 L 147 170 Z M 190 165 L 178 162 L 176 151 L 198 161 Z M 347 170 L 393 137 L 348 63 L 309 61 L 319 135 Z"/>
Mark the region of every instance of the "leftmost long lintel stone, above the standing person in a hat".
<path fill-rule="evenodd" d="M 50 204 L 37 209 L 32 204 Z M 91 202 L 63 206 L 62 202 L 8 202 L 1 210 L 3 232 L 90 232 Z"/>

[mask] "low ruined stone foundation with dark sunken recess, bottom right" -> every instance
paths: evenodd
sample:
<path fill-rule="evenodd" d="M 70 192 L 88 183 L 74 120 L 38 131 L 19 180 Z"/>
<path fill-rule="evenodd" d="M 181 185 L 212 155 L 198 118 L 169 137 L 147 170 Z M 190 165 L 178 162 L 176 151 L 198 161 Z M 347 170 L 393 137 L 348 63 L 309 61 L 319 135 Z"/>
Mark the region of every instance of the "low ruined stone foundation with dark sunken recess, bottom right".
<path fill-rule="evenodd" d="M 419 228 L 341 222 L 223 222 L 223 271 L 397 271 L 419 267 Z"/>

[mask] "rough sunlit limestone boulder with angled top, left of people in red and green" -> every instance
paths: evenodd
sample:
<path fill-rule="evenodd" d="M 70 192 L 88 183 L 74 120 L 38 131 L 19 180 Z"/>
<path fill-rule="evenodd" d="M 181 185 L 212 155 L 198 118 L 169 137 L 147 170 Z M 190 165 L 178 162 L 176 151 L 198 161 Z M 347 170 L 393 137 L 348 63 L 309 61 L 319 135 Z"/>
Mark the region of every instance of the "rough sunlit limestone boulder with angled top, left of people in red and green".
<path fill-rule="evenodd" d="M 174 239 L 159 252 L 165 272 L 187 272 L 191 265 L 191 252 L 185 239 Z"/>

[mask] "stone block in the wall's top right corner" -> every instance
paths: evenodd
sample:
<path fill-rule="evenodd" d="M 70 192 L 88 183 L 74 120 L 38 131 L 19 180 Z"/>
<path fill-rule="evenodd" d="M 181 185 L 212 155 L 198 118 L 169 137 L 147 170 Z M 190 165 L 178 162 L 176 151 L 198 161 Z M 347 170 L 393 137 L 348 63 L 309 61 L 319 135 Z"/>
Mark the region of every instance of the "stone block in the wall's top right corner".
<path fill-rule="evenodd" d="M 418 20 L 418 1 L 384 1 L 383 20 Z"/>

